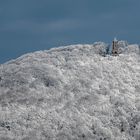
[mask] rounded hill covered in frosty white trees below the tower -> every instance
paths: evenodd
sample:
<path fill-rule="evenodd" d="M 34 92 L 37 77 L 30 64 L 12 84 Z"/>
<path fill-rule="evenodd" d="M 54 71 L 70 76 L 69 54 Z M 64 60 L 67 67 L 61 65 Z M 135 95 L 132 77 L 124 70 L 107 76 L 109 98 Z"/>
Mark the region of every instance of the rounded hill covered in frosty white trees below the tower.
<path fill-rule="evenodd" d="M 71 45 L 0 65 L 0 140 L 140 140 L 139 47 L 105 50 Z"/>

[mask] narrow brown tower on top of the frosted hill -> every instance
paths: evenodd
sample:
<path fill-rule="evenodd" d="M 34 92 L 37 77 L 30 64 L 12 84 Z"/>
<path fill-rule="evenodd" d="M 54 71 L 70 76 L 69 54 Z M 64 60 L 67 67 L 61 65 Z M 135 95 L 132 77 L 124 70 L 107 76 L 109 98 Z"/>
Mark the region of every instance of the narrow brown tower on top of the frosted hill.
<path fill-rule="evenodd" d="M 114 38 L 114 40 L 112 42 L 112 55 L 113 56 L 119 55 L 119 44 L 118 44 L 118 40 L 116 38 Z"/>

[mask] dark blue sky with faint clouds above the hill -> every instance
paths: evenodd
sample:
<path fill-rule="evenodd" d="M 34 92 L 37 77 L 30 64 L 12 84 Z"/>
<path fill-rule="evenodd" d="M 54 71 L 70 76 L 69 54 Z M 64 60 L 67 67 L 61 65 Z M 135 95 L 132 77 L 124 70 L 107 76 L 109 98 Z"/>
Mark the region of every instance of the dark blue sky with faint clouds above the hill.
<path fill-rule="evenodd" d="M 0 63 L 116 36 L 140 43 L 140 0 L 0 0 Z"/>

